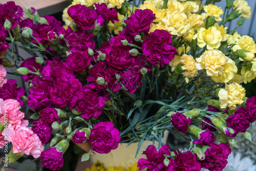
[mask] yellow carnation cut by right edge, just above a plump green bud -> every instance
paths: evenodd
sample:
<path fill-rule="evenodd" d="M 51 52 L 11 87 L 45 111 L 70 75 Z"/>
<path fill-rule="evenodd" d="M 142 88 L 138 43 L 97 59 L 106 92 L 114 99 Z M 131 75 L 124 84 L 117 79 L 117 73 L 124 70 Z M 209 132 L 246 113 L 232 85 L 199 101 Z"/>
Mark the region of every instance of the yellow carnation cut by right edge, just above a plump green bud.
<path fill-rule="evenodd" d="M 234 37 L 234 39 L 236 40 L 234 43 L 236 45 L 234 45 L 232 48 L 234 52 L 240 49 L 244 49 L 250 51 L 251 53 L 256 53 L 256 44 L 252 37 L 243 35 L 242 37 Z"/>

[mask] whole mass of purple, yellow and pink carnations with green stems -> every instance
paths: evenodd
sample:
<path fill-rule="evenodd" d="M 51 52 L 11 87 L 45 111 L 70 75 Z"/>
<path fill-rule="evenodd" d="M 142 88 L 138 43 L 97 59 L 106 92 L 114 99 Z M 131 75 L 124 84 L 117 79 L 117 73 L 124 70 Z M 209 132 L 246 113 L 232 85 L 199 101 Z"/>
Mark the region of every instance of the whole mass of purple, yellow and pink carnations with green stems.
<path fill-rule="evenodd" d="M 224 12 L 216 2 L 76 0 L 63 11 L 65 26 L 1 4 L 0 144 L 12 143 L 8 163 L 31 154 L 59 170 L 70 143 L 86 161 L 123 142 L 139 142 L 137 156 L 151 140 L 140 170 L 222 170 L 237 134 L 251 141 L 256 96 L 246 97 L 241 83 L 256 76 L 256 44 L 235 32 L 250 17 L 247 2 L 226 0 Z M 236 28 L 225 26 L 238 17 Z M 16 56 L 14 44 L 32 57 Z M 5 67 L 18 68 L 28 96 Z M 35 112 L 31 127 L 19 111 L 25 103 Z M 166 130 L 188 150 L 164 144 Z"/>

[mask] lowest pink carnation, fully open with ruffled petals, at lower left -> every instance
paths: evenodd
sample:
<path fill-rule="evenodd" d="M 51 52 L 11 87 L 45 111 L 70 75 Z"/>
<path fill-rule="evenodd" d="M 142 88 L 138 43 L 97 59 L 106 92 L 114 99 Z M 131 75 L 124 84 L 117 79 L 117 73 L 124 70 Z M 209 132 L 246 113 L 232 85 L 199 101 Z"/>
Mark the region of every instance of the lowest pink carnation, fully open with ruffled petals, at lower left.
<path fill-rule="evenodd" d="M 41 152 L 44 151 L 44 146 L 42 146 L 40 139 L 30 127 L 20 126 L 14 130 L 11 126 L 8 131 L 9 141 L 13 145 L 13 153 L 31 154 L 34 158 L 38 158 Z"/>

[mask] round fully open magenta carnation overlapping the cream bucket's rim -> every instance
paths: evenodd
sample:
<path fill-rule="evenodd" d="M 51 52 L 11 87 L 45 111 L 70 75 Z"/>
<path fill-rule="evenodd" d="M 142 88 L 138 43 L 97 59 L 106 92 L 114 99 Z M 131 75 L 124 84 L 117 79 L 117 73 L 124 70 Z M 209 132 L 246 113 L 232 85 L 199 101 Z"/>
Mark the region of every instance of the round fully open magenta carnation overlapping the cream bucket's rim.
<path fill-rule="evenodd" d="M 93 151 L 108 154 L 118 147 L 120 140 L 120 133 L 112 122 L 99 122 L 91 130 L 88 142 L 92 143 Z"/>

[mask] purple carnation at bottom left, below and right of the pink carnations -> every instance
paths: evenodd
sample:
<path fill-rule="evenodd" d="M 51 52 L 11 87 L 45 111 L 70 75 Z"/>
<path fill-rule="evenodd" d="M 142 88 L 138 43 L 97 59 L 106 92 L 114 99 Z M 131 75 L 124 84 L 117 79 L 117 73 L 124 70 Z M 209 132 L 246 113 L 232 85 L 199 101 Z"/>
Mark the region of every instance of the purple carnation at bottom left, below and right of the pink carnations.
<path fill-rule="evenodd" d="M 59 170 L 63 167 L 63 152 L 58 152 L 57 147 L 49 148 L 41 153 L 40 162 L 46 168 L 51 170 Z"/>

